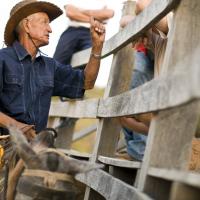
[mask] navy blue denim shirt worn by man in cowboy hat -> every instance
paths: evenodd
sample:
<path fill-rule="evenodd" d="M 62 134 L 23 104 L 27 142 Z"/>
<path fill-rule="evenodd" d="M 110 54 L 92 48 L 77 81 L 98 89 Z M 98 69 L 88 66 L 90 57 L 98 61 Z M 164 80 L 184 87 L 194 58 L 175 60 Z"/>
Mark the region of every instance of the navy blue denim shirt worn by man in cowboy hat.
<path fill-rule="evenodd" d="M 82 98 L 84 70 L 53 58 L 31 56 L 15 41 L 0 50 L 0 111 L 19 122 L 46 127 L 52 96 Z M 3 129 L 3 134 L 8 131 Z"/>

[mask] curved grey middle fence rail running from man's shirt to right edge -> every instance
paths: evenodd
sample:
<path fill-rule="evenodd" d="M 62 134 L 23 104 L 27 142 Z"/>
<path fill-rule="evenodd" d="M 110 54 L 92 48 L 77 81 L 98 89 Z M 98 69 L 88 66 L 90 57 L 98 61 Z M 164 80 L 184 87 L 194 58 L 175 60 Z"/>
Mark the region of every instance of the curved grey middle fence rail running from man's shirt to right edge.
<path fill-rule="evenodd" d="M 174 70 L 121 95 L 106 99 L 52 102 L 49 114 L 72 118 L 108 118 L 159 111 L 199 99 L 199 55 L 200 46 Z"/>

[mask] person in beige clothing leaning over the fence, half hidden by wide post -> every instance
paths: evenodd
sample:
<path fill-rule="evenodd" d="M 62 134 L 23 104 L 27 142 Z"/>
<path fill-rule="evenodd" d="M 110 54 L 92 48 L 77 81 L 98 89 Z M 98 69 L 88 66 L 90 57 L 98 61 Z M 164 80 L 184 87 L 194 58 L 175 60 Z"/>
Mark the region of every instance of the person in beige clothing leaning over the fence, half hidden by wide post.
<path fill-rule="evenodd" d="M 144 8 L 146 8 L 152 0 L 138 0 L 136 3 L 135 14 L 138 15 Z M 125 19 L 128 18 L 130 20 L 130 16 L 125 16 Z M 132 16 L 132 19 L 134 17 Z M 144 35 L 140 36 L 137 40 L 132 42 L 132 47 L 137 50 L 139 45 L 142 43 L 145 48 L 150 48 L 155 53 L 155 62 L 154 62 L 154 77 L 159 76 L 161 73 L 165 71 L 163 69 L 163 61 L 164 55 L 167 47 L 168 36 L 170 34 L 171 25 L 172 25 L 172 18 L 173 18 L 173 11 L 170 12 L 167 16 L 165 16 L 162 20 L 160 20 L 152 29 L 147 31 Z M 130 128 L 133 131 L 137 131 L 138 129 L 141 130 L 140 133 L 144 135 L 148 135 L 148 128 L 151 123 L 153 114 L 141 114 L 141 115 L 134 115 L 134 122 L 131 123 L 132 118 L 127 117 L 120 117 L 117 118 L 116 121 L 125 126 Z M 135 120 L 137 119 L 137 121 Z M 143 125 L 141 124 L 143 123 Z M 200 124 L 200 118 L 199 122 Z M 144 129 L 144 125 L 147 129 Z M 196 136 L 199 131 L 199 125 L 197 126 Z M 139 131 L 138 131 L 139 132 Z M 200 141 L 194 137 L 192 151 L 191 151 L 191 158 L 189 163 L 189 170 L 191 171 L 199 171 L 200 169 Z"/>

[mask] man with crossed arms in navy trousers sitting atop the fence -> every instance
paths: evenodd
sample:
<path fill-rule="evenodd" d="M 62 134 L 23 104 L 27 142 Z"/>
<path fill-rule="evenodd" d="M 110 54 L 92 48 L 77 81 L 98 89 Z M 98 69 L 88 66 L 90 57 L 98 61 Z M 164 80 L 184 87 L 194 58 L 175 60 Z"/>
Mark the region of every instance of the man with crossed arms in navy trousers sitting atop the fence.
<path fill-rule="evenodd" d="M 113 17 L 114 11 L 108 8 L 106 0 L 66 0 L 64 8 L 69 19 L 68 28 L 58 41 L 54 59 L 62 64 L 69 64 L 75 52 L 92 46 L 90 11 L 93 12 L 95 20 L 103 24 Z M 64 26 L 67 26 L 67 23 Z"/>

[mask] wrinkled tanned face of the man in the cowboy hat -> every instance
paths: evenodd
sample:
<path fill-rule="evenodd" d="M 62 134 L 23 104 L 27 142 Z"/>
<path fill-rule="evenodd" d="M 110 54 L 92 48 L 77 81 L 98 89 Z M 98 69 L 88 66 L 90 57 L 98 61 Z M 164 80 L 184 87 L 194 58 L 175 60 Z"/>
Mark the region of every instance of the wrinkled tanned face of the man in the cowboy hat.
<path fill-rule="evenodd" d="M 28 21 L 28 26 L 30 37 L 38 47 L 49 44 L 49 34 L 52 30 L 46 13 L 35 13 L 33 20 Z"/>

